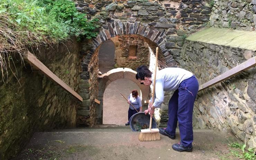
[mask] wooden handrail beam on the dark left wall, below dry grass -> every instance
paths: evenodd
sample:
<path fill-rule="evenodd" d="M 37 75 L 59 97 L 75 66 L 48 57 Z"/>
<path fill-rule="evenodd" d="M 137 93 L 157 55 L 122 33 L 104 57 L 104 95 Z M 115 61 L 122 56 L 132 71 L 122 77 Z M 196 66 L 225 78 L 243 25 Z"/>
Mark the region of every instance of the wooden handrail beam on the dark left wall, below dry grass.
<path fill-rule="evenodd" d="M 72 88 L 67 86 L 60 78 L 58 78 L 51 70 L 49 70 L 41 61 L 39 61 L 32 53 L 29 51 L 23 56 L 24 60 L 30 63 L 34 68 L 37 70 L 41 70 L 45 76 L 49 77 L 52 81 L 56 82 L 60 85 L 63 89 L 70 92 L 74 97 L 83 101 L 83 98 L 76 93 Z"/>

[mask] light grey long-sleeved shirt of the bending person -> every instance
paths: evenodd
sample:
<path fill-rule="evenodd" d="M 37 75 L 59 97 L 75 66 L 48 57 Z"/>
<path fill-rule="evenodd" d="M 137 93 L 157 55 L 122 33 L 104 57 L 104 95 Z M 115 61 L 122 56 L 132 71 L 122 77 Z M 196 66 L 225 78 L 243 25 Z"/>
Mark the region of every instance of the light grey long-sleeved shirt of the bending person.
<path fill-rule="evenodd" d="M 156 73 L 155 101 L 153 106 L 160 108 L 164 101 L 164 91 L 172 91 L 179 88 L 179 84 L 193 73 L 182 68 L 164 68 Z M 151 76 L 154 82 L 154 74 Z M 152 101 L 152 99 L 150 100 Z"/>

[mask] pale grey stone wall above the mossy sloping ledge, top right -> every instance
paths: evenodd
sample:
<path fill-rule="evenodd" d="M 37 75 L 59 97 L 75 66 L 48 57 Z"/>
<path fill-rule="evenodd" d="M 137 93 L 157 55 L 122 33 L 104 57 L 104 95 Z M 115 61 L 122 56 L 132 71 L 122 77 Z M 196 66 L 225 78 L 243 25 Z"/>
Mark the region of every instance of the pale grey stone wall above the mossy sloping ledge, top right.
<path fill-rule="evenodd" d="M 256 0 L 211 0 L 210 25 L 239 30 L 255 30 Z"/>

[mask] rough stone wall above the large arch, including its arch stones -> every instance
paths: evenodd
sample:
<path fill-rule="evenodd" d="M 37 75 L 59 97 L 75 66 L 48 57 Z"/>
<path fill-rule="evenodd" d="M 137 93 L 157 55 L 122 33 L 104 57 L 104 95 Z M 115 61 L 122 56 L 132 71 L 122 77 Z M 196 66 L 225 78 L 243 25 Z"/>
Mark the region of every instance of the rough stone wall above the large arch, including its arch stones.
<path fill-rule="evenodd" d="M 186 34 L 204 27 L 210 18 L 209 4 L 203 0 L 75 2 L 88 19 L 99 19 L 100 35 L 93 41 L 94 46 L 116 35 L 140 34 L 159 46 L 168 66 L 176 65 L 174 58 L 180 54 Z"/>

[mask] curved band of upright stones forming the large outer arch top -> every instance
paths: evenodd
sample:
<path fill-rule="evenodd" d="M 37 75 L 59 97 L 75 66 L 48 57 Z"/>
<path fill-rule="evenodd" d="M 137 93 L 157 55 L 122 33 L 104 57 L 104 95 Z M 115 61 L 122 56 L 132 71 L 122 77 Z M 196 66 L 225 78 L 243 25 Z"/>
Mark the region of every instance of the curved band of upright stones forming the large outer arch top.
<path fill-rule="evenodd" d="M 176 62 L 172 54 L 166 48 L 165 31 L 165 29 L 159 30 L 154 26 L 150 26 L 148 23 L 143 22 L 108 20 L 100 28 L 98 36 L 92 39 L 91 44 L 93 46 L 93 50 L 95 51 L 102 44 L 102 42 L 113 37 L 124 34 L 137 34 L 149 39 L 159 47 L 159 54 L 164 55 L 167 66 L 175 66 Z"/>

